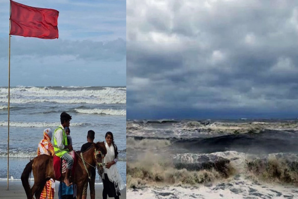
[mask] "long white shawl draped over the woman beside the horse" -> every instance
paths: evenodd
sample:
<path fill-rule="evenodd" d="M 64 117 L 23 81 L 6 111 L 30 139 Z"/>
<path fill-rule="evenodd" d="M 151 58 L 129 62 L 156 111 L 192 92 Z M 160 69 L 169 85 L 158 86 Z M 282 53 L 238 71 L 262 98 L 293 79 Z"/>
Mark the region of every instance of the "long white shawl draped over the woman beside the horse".
<path fill-rule="evenodd" d="M 113 144 L 111 144 L 111 146 L 109 147 L 109 145 L 105 143 L 105 148 L 107 149 L 107 154 L 105 155 L 103 162 L 108 163 L 115 159 L 114 146 Z M 118 184 L 119 190 L 122 190 L 125 188 L 125 184 L 121 176 L 119 175 L 116 164 L 113 164 L 109 169 L 105 168 L 104 166 L 104 173 L 108 175 L 108 178 L 111 182 L 113 182 L 114 184 Z M 103 179 L 104 179 L 104 175 L 103 175 Z"/>

